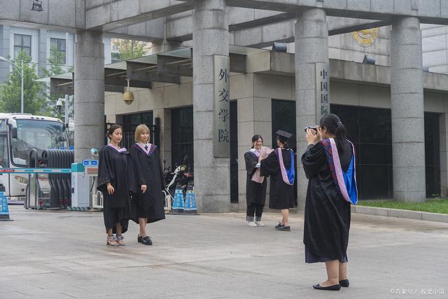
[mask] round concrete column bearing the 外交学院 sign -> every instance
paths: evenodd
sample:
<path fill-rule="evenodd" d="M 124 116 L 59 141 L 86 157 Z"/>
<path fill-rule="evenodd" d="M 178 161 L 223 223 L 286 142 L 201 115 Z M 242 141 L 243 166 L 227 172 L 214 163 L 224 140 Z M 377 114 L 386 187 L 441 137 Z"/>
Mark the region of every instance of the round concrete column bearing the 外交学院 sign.
<path fill-rule="evenodd" d="M 213 154 L 213 56 L 229 55 L 225 0 L 197 0 L 193 13 L 195 193 L 202 213 L 230 211 L 230 159 Z"/>

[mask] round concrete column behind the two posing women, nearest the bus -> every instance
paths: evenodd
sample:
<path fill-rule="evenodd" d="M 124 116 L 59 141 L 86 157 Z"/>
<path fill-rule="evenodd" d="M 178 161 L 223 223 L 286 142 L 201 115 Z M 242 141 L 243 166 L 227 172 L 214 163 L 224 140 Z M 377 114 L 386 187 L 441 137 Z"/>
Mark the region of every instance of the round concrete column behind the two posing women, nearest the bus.
<path fill-rule="evenodd" d="M 78 32 L 75 45 L 75 162 L 104 146 L 104 44 L 100 32 Z"/>

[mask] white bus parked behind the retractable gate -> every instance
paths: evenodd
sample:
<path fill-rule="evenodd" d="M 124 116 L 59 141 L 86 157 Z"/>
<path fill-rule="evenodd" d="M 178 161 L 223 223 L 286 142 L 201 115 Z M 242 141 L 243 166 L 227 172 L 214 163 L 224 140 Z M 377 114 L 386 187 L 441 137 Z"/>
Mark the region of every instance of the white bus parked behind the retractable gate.
<path fill-rule="evenodd" d="M 45 149 L 69 149 L 64 123 L 46 116 L 0 113 L 0 168 L 29 167 L 31 148 L 39 157 Z M 25 200 L 27 183 L 27 174 L 0 175 L 10 202 Z"/>

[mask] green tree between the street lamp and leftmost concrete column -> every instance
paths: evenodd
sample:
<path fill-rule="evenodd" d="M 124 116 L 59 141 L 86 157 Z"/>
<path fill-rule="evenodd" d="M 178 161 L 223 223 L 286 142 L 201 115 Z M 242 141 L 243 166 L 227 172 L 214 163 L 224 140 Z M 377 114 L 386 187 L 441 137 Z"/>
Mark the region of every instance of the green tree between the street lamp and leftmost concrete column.
<path fill-rule="evenodd" d="M 52 46 L 50 48 L 50 57 L 47 59 L 47 64 L 49 68 L 43 67 L 41 69 L 43 77 L 51 77 L 59 74 L 64 74 L 65 71 L 62 69 L 62 63 L 65 61 L 64 53 L 61 53 L 57 50 L 56 46 Z M 73 71 L 72 68 L 69 71 Z M 45 116 L 51 116 L 53 118 L 59 118 L 64 120 L 64 109 L 65 105 L 62 106 L 62 109 L 58 109 L 56 106 L 57 99 L 64 98 L 65 95 L 62 94 L 52 94 L 50 93 L 50 83 L 46 84 L 46 89 L 48 92 L 45 92 Z M 69 97 L 69 117 L 73 117 L 73 97 Z M 64 120 L 65 121 L 65 120 Z"/>

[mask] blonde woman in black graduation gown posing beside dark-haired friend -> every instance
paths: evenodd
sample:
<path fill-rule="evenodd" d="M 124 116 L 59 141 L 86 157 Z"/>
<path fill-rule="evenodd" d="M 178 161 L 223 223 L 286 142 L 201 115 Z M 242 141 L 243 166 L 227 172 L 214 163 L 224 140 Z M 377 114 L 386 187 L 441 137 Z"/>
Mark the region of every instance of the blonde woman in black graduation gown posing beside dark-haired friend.
<path fill-rule="evenodd" d="M 162 167 L 157 146 L 149 142 L 149 129 L 146 125 L 138 125 L 135 130 L 135 141 L 130 148 L 130 156 L 134 164 L 137 178 L 137 192 L 132 197 L 132 220 L 140 226 L 137 242 L 152 245 L 151 237 L 146 235 L 146 223 L 165 219 L 165 204 L 162 189 L 165 186 Z"/>

